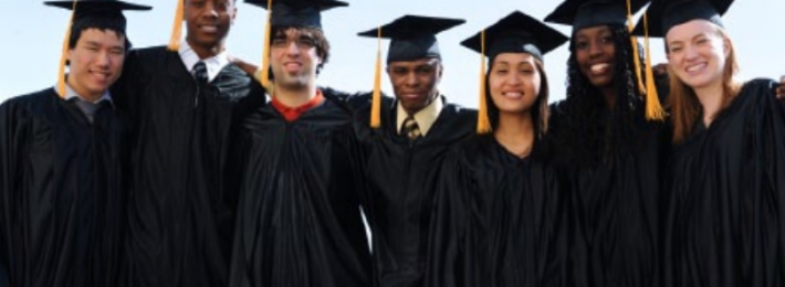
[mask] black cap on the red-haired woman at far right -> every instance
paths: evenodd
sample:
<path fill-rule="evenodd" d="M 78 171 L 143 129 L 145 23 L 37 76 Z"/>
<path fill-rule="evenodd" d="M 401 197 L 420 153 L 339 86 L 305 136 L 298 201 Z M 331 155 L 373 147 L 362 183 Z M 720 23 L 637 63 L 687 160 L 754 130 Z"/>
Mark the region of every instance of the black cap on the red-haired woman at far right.
<path fill-rule="evenodd" d="M 733 0 L 652 0 L 646 10 L 646 19 L 638 21 L 636 35 L 664 38 L 674 25 L 701 19 L 723 26 L 722 14 Z"/>

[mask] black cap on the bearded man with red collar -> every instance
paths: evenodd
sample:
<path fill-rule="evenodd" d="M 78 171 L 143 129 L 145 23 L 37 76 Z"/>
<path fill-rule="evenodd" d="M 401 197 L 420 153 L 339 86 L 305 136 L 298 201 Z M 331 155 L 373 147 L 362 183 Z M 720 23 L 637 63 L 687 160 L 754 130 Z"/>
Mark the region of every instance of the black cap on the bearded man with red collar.
<path fill-rule="evenodd" d="M 265 0 L 245 0 L 245 3 L 269 9 Z M 347 6 L 335 0 L 273 0 L 270 21 L 273 26 L 322 28 L 322 11 Z"/>

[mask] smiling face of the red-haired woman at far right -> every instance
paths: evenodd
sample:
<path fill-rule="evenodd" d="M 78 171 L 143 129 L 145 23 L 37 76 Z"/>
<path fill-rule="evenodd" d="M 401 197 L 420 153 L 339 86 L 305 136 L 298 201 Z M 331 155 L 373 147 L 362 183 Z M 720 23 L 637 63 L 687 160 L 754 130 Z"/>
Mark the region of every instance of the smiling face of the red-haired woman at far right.
<path fill-rule="evenodd" d="M 730 41 L 718 26 L 705 20 L 693 20 L 671 28 L 666 34 L 668 65 L 692 88 L 722 84 Z"/>

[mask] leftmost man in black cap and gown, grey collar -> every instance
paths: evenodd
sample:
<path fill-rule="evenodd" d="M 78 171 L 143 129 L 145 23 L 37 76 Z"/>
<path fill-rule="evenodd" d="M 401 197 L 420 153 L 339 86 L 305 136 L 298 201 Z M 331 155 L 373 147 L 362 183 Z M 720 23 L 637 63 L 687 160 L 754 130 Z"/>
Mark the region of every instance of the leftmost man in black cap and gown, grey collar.
<path fill-rule="evenodd" d="M 116 286 L 127 123 L 108 87 L 129 49 L 122 11 L 150 8 L 46 4 L 73 10 L 70 68 L 57 86 L 0 105 L 0 286 Z"/>

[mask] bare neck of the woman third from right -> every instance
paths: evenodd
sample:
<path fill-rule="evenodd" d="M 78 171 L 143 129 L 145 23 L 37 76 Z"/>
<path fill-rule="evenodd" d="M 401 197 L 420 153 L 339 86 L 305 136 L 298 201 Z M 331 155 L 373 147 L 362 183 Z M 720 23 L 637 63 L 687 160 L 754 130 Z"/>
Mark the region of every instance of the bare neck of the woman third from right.
<path fill-rule="evenodd" d="M 493 137 L 504 149 L 519 158 L 528 157 L 534 145 L 532 114 L 530 111 L 500 113 L 499 125 L 493 132 Z"/>

